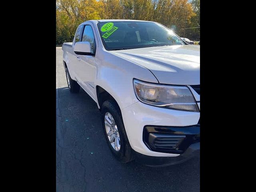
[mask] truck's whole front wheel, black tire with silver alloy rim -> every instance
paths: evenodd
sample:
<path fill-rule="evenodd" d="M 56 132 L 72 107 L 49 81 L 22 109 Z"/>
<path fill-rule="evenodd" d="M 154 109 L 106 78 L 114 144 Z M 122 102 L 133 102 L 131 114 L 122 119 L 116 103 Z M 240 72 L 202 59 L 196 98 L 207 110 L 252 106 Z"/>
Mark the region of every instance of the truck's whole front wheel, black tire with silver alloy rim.
<path fill-rule="evenodd" d="M 132 161 L 132 148 L 126 135 L 121 110 L 113 100 L 103 103 L 102 122 L 108 146 L 114 156 L 123 163 Z"/>

